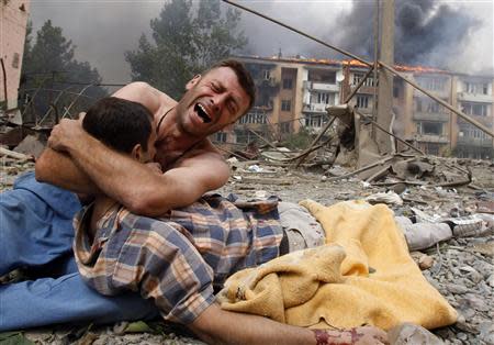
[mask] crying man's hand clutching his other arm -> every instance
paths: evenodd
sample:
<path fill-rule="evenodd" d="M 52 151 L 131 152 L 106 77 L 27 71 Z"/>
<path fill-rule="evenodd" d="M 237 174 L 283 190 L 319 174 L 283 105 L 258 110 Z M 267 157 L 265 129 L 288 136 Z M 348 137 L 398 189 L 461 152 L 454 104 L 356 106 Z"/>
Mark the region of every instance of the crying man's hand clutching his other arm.
<path fill-rule="evenodd" d="M 86 131 L 82 129 L 82 119 L 68 120 L 63 119 L 52 130 L 52 134 L 48 137 L 48 147 L 58 152 L 68 152 L 70 143 L 77 143 Z"/>

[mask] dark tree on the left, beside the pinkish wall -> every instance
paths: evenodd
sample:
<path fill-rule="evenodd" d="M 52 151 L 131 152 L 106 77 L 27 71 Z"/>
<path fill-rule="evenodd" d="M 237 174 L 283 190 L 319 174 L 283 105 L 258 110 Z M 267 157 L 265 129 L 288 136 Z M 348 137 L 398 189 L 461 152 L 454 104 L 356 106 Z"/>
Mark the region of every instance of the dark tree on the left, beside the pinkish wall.
<path fill-rule="evenodd" d="M 100 84 L 101 77 L 89 63 L 75 59 L 76 46 L 63 35 L 61 27 L 54 26 L 50 20 L 37 31 L 34 44 L 31 34 L 32 24 L 29 23 L 22 64 L 21 97 L 24 97 L 25 104 L 30 98 L 34 98 L 27 109 L 31 115 L 27 122 L 35 120 L 34 118 L 40 120 L 48 113 L 49 124 L 64 114 L 77 93 L 88 85 Z M 60 90 L 65 91 L 60 93 Z M 87 88 L 70 108 L 70 114 L 86 110 L 104 96 L 106 91 L 101 87 Z"/>

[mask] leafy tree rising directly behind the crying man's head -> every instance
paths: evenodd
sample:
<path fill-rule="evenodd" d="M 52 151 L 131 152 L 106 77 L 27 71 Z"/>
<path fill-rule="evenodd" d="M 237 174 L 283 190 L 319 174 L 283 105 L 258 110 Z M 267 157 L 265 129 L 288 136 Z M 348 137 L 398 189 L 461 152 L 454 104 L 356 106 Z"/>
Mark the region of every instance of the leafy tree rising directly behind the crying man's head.
<path fill-rule="evenodd" d="M 194 74 L 247 44 L 238 32 L 240 12 L 222 12 L 220 0 L 171 0 L 151 20 L 153 42 L 143 34 L 136 51 L 125 53 L 132 79 L 151 84 L 178 99 Z"/>

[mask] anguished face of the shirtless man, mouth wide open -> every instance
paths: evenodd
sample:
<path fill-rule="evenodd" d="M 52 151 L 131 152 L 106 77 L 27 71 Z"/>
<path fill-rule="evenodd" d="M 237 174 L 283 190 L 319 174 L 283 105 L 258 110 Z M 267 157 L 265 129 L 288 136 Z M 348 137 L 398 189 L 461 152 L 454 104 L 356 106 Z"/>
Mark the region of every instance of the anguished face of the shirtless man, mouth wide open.
<path fill-rule="evenodd" d="M 215 68 L 188 82 L 177 105 L 178 124 L 184 133 L 206 136 L 235 122 L 249 101 L 233 69 Z"/>

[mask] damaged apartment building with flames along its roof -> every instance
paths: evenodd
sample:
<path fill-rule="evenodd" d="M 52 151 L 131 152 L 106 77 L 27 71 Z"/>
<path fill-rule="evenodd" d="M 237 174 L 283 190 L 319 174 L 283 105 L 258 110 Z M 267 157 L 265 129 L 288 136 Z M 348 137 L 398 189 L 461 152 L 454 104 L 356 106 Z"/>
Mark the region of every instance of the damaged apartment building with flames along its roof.
<path fill-rule="evenodd" d="M 256 134 L 282 141 L 302 127 L 317 133 L 328 121 L 326 108 L 343 102 L 364 78 L 367 66 L 356 60 L 254 57 L 240 59 L 251 71 L 257 100 L 249 113 L 216 135 L 217 142 L 246 144 Z M 470 76 L 425 67 L 395 66 L 407 78 L 489 129 L 494 129 L 494 77 Z M 372 76 L 351 103 L 372 114 Z M 393 132 L 426 154 L 492 159 L 493 140 L 403 80 L 393 89 Z"/>

